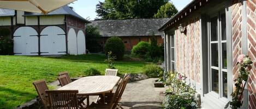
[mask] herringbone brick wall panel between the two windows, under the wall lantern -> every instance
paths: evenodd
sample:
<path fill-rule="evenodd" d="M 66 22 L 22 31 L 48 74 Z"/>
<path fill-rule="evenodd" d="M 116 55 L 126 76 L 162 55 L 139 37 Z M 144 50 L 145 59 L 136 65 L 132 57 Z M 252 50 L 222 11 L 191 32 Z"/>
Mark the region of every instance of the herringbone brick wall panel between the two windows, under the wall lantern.
<path fill-rule="evenodd" d="M 184 73 L 189 79 L 200 83 L 200 21 L 199 17 L 190 18 L 186 33 L 175 30 L 176 71 Z"/>

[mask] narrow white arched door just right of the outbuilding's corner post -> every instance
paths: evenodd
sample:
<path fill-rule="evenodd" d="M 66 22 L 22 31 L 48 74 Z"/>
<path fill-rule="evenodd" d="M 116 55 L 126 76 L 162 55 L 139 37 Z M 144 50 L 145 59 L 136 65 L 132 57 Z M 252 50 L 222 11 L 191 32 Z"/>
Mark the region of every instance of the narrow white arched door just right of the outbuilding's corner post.
<path fill-rule="evenodd" d="M 69 29 L 68 31 L 68 54 L 78 55 L 78 44 L 75 30 L 73 28 Z"/>

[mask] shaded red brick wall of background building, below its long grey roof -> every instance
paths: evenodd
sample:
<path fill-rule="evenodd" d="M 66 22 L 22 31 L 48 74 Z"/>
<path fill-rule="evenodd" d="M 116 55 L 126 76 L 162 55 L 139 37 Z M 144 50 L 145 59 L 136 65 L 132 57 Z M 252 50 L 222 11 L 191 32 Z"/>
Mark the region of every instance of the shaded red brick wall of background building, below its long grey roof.
<path fill-rule="evenodd" d="M 150 38 L 152 36 L 128 36 L 128 37 L 120 37 L 123 40 L 124 46 L 126 48 L 126 50 L 132 50 L 133 46 L 136 46 L 136 44 L 138 44 L 140 41 L 145 41 L 148 42 L 150 41 Z M 104 43 L 106 42 L 106 40 L 108 40 L 109 37 L 102 37 L 100 39 L 99 43 Z M 163 44 L 163 39 L 161 36 L 156 36 L 157 38 L 157 43 L 158 46 L 161 46 Z"/>

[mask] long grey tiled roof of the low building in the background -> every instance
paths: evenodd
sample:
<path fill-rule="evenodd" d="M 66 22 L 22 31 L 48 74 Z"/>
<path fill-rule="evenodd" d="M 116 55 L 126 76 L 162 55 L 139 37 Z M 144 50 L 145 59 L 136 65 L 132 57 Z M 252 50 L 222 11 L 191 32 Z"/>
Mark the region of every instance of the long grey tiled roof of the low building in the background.
<path fill-rule="evenodd" d="M 131 20 L 103 20 L 91 21 L 89 25 L 98 27 L 100 35 L 111 36 L 152 36 L 162 35 L 158 28 L 169 18 L 131 19 Z"/>

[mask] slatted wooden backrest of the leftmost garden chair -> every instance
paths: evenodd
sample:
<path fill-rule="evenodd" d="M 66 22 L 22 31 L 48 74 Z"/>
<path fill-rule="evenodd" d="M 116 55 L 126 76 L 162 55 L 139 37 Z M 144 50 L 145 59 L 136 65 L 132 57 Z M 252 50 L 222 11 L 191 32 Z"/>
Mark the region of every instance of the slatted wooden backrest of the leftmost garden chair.
<path fill-rule="evenodd" d="M 37 94 L 40 98 L 41 103 L 44 105 L 45 108 L 47 108 L 47 106 L 49 105 L 49 101 L 45 91 L 48 90 L 49 88 L 46 85 L 46 81 L 45 80 L 34 81 L 33 85 L 35 87 L 35 90 L 37 90 Z"/>

